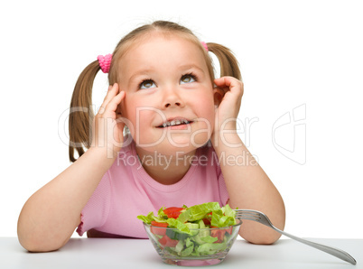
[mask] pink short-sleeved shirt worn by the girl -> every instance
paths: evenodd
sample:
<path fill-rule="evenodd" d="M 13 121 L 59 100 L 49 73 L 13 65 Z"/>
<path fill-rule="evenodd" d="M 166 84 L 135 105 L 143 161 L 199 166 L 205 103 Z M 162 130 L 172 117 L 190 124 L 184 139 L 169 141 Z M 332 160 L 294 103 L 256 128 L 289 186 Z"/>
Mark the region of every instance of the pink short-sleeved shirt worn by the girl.
<path fill-rule="evenodd" d="M 221 206 L 228 201 L 212 146 L 197 150 L 191 168 L 181 181 L 163 185 L 144 171 L 133 142 L 118 153 L 116 162 L 99 182 L 82 210 L 77 232 L 82 236 L 93 229 L 115 237 L 147 238 L 143 222 L 136 218 L 138 215 L 147 215 L 150 211 L 156 215 L 161 207 L 191 207 L 209 201 L 218 201 Z"/>

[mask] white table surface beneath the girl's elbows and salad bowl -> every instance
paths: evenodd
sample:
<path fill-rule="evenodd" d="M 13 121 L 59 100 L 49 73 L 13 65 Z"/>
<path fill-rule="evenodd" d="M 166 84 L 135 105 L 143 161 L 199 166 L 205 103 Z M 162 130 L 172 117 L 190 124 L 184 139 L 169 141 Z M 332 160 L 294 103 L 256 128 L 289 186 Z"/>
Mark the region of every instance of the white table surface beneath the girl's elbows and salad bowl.
<path fill-rule="evenodd" d="M 363 268 L 363 239 L 311 239 L 340 248 L 357 260 L 346 263 L 291 239 L 272 246 L 257 246 L 237 239 L 226 259 L 209 268 Z M 60 250 L 28 253 L 16 237 L 0 237 L 0 268 L 172 268 L 163 264 L 147 239 L 70 238 Z M 176 266 L 174 266 L 175 268 Z M 201 267 L 199 267 L 201 268 Z"/>

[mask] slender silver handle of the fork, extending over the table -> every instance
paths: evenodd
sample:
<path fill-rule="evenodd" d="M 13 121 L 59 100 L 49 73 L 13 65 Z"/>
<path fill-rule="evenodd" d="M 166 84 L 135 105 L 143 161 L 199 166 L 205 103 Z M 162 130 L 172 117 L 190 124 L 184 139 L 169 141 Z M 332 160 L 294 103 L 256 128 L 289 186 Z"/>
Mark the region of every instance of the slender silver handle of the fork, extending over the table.
<path fill-rule="evenodd" d="M 286 233 L 276 227 L 274 227 L 274 229 L 279 232 L 280 234 L 284 235 L 285 237 L 290 237 L 296 241 L 299 241 L 300 243 L 302 244 L 305 244 L 305 245 L 308 245 L 308 246 L 312 246 L 312 247 L 315 247 L 323 252 L 326 252 L 330 255 L 334 255 L 350 264 L 357 264 L 357 261 L 351 256 L 349 255 L 348 253 L 346 253 L 345 251 L 343 250 L 340 250 L 339 248 L 335 248 L 335 247 L 332 247 L 332 246 L 325 246 L 325 245 L 321 245 L 321 244 L 318 244 L 318 243 L 315 243 L 315 242 L 312 242 L 312 241 L 309 241 L 309 240 L 305 240 L 305 239 L 302 239 L 300 237 L 295 237 L 293 235 L 290 235 L 289 233 Z"/>

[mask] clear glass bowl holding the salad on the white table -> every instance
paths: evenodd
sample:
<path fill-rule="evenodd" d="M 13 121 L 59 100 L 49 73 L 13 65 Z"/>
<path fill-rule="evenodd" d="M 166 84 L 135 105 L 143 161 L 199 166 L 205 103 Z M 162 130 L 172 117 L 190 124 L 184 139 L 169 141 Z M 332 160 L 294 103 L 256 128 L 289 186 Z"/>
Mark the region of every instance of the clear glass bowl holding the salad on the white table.
<path fill-rule="evenodd" d="M 242 221 L 230 227 L 191 228 L 191 234 L 176 228 L 144 223 L 147 236 L 165 264 L 204 266 L 221 263 L 235 242 Z"/>

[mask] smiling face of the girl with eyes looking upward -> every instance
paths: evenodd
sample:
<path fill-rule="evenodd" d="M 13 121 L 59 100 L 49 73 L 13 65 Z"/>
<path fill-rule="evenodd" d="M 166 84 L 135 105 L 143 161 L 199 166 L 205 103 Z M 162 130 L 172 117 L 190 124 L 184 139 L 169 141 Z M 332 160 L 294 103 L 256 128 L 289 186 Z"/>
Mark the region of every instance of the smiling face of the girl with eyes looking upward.
<path fill-rule="evenodd" d="M 135 143 L 147 152 L 191 153 L 209 141 L 214 95 L 200 48 L 178 35 L 154 34 L 119 62 L 126 91 L 122 116 Z"/>

